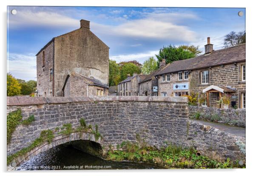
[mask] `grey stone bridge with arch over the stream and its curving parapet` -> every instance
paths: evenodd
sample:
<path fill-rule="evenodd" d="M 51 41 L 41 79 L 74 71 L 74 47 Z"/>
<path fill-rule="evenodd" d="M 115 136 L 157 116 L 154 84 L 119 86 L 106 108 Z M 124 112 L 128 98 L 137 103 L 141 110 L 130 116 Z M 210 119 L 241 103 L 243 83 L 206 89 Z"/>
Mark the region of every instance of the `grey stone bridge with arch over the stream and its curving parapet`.
<path fill-rule="evenodd" d="M 23 119 L 34 115 L 29 125 L 19 124 L 7 146 L 7 155 L 15 154 L 29 146 L 43 130 L 61 128 L 71 123 L 80 126 L 84 118 L 87 125 L 98 125 L 102 138 L 95 139 L 89 133 L 74 132 L 71 135 L 54 134 L 51 143 L 43 143 L 26 154 L 17 157 L 17 165 L 49 148 L 77 140 L 94 141 L 103 151 L 109 145 L 122 141 L 136 141 L 136 135 L 156 147 L 166 142 L 183 147 L 193 146 L 206 156 L 217 160 L 245 159 L 238 143 L 245 138 L 236 137 L 210 126 L 188 119 L 186 97 L 161 96 L 104 96 L 104 97 L 8 97 L 7 113 L 21 109 Z"/>

